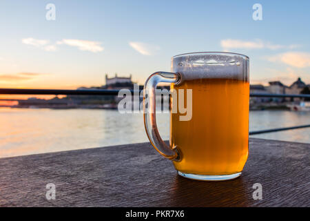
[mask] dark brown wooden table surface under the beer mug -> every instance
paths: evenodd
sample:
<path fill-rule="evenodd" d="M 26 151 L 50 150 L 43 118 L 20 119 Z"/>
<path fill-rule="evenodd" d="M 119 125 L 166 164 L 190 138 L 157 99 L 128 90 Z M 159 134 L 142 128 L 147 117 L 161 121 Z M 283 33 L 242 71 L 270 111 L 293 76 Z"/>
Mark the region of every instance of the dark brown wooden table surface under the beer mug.
<path fill-rule="evenodd" d="M 149 143 L 2 158 L 0 206 L 310 206 L 309 150 L 252 138 L 241 177 L 223 182 L 180 177 Z"/>

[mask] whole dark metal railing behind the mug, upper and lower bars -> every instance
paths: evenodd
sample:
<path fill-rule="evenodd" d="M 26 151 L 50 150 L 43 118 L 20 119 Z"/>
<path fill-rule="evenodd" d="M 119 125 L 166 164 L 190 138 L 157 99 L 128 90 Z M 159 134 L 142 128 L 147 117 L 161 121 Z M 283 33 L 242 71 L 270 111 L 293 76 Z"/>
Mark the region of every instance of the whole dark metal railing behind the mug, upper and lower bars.
<path fill-rule="evenodd" d="M 118 95 L 119 90 L 106 89 L 81 89 L 81 90 L 57 90 L 57 89 L 16 89 L 16 88 L 0 88 L 0 95 Z M 134 90 L 131 90 L 133 93 Z M 141 90 L 139 90 L 139 93 Z M 250 97 L 299 97 L 310 98 L 310 95 L 287 95 L 287 94 L 267 94 L 267 93 L 250 93 Z M 8 100 L 8 99 L 7 99 Z M 302 126 L 290 126 L 285 128 L 272 128 L 262 131 L 250 131 L 249 135 L 257 135 L 261 133 L 271 133 L 278 131 L 287 131 L 298 128 L 307 128 L 310 124 Z"/>

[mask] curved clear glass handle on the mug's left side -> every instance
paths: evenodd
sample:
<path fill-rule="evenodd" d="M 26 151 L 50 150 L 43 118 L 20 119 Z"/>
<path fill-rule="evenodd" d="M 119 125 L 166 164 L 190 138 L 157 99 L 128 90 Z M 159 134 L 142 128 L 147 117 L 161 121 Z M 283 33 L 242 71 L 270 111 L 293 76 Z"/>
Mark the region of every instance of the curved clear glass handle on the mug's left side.
<path fill-rule="evenodd" d="M 180 81 L 178 73 L 156 72 L 145 81 L 143 90 L 143 114 L 147 137 L 152 146 L 169 160 L 180 160 L 176 146 L 168 146 L 163 142 L 156 125 L 156 86 L 160 82 L 177 83 Z M 146 105 L 148 107 L 146 107 Z"/>

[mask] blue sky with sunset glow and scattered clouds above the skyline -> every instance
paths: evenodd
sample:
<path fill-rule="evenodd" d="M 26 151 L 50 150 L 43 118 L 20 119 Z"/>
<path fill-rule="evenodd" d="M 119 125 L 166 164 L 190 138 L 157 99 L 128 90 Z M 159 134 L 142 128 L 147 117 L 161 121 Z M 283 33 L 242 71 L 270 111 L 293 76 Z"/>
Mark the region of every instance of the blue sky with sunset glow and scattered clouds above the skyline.
<path fill-rule="evenodd" d="M 56 20 L 45 18 L 54 3 Z M 254 3 L 262 21 L 254 21 Z M 185 52 L 250 57 L 252 84 L 310 83 L 309 1 L 1 1 L 0 87 L 143 84 Z"/>

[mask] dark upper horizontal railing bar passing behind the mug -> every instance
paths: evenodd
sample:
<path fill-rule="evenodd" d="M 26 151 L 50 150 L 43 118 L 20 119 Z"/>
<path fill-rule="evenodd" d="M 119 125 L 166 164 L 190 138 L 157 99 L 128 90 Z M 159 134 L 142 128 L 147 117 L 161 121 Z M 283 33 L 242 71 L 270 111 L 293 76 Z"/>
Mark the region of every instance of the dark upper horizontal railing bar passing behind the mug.
<path fill-rule="evenodd" d="M 119 90 L 61 90 L 61 89 L 16 89 L 0 88 L 0 95 L 118 95 Z M 130 90 L 132 93 L 134 90 Z M 141 92 L 141 90 L 140 90 Z M 310 95 L 250 93 L 250 97 L 310 97 Z"/>

